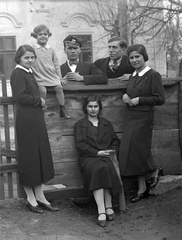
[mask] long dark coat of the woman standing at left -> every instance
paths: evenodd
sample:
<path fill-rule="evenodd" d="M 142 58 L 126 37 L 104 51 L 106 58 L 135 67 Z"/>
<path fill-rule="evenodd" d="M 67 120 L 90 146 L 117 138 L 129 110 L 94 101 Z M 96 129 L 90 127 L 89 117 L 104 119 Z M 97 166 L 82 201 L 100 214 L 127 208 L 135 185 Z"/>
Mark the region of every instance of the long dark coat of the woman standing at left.
<path fill-rule="evenodd" d="M 13 70 L 10 83 L 16 103 L 20 184 L 37 186 L 54 177 L 38 85 L 32 73 L 20 68 Z"/>

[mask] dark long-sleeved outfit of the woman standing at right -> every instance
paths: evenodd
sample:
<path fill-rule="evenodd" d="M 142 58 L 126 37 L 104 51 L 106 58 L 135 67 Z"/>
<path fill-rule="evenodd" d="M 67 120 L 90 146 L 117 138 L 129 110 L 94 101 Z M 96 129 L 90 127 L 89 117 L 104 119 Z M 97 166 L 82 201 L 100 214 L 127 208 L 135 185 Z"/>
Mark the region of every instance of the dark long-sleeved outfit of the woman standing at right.
<path fill-rule="evenodd" d="M 165 102 L 161 75 L 153 69 L 142 76 L 130 76 L 127 86 L 130 98 L 139 104 L 127 105 L 119 151 L 123 176 L 142 176 L 156 170 L 151 153 L 154 106 Z"/>

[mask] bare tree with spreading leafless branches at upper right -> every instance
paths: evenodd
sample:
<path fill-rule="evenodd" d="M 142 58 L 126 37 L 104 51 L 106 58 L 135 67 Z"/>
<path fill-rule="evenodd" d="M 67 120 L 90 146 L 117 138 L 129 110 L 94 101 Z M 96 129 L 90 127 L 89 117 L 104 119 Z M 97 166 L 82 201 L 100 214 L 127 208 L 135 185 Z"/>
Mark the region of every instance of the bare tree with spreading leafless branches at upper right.
<path fill-rule="evenodd" d="M 129 43 L 160 38 L 168 66 L 177 66 L 182 54 L 182 0 L 87 1 L 89 16 L 103 27 L 105 35 L 119 35 Z"/>

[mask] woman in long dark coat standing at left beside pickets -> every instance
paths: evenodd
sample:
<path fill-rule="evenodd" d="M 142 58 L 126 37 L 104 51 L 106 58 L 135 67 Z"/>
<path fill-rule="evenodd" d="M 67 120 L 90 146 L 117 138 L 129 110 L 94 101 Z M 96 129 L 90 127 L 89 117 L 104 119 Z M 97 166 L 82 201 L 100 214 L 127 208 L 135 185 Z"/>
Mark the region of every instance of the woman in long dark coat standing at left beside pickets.
<path fill-rule="evenodd" d="M 31 69 L 35 58 L 31 46 L 20 46 L 15 55 L 17 65 L 11 74 L 10 83 L 16 104 L 19 182 L 27 195 L 27 208 L 32 212 L 43 213 L 43 209 L 57 209 L 46 200 L 42 189 L 42 183 L 54 177 L 54 169 L 42 110 L 45 108 L 45 100 L 40 98 Z"/>

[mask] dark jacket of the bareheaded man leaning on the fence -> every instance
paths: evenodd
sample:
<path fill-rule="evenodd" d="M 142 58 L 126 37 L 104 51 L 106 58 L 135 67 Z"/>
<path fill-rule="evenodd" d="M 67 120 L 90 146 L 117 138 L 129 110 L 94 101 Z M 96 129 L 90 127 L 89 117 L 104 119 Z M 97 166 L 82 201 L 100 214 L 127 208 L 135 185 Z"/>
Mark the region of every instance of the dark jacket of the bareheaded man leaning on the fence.
<path fill-rule="evenodd" d="M 123 76 L 124 74 L 130 74 L 134 72 L 134 68 L 131 66 L 131 64 L 128 61 L 127 56 L 123 56 L 119 68 L 116 70 L 116 72 L 111 71 L 109 68 L 109 61 L 110 58 L 100 58 L 94 62 L 94 65 L 100 69 L 102 72 L 104 72 L 107 76 L 107 78 L 118 78 Z"/>

